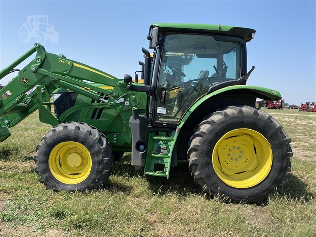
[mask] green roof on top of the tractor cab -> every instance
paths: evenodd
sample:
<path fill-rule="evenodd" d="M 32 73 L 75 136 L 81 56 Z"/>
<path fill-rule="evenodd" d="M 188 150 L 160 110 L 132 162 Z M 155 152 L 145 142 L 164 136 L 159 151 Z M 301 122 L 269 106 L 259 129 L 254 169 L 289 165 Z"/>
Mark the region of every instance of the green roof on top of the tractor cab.
<path fill-rule="evenodd" d="M 215 25 L 215 24 L 187 24 L 187 23 L 154 23 L 151 27 L 158 27 L 160 31 L 172 32 L 203 32 L 216 35 L 234 36 L 250 41 L 252 33 L 256 31 L 250 28 Z"/>

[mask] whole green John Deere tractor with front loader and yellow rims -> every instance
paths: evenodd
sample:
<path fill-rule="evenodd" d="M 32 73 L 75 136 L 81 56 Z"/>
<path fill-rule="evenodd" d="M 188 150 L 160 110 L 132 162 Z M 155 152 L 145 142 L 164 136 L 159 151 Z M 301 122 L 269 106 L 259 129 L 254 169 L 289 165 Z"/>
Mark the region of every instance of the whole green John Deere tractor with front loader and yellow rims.
<path fill-rule="evenodd" d="M 35 171 L 47 189 L 84 191 L 105 183 L 113 160 L 131 152 L 144 175 L 169 179 L 187 160 L 194 181 L 226 201 L 261 203 L 291 170 L 290 138 L 255 107 L 276 90 L 246 85 L 246 42 L 255 30 L 156 23 L 141 80 L 47 53 L 38 43 L 3 69 L 3 78 L 35 59 L 1 88 L 1 141 L 36 109 L 52 129 L 36 147 Z M 140 83 L 142 82 L 142 83 Z M 53 110 L 52 112 L 52 105 Z"/>

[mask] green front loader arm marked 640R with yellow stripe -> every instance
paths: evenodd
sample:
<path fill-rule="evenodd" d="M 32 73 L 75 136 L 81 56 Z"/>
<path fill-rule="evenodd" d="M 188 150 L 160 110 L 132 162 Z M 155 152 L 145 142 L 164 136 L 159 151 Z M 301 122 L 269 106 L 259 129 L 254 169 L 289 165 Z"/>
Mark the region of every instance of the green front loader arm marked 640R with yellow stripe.
<path fill-rule="evenodd" d="M 35 52 L 35 58 L 0 90 L 0 142 L 10 136 L 8 128 L 15 126 L 37 109 L 41 122 L 56 126 L 59 121 L 51 112 L 50 98 L 59 88 L 104 104 L 124 102 L 126 93 L 123 91 L 126 91 L 126 84 L 123 80 L 66 59 L 63 55 L 47 53 L 38 43 L 4 68 L 0 72 L 0 78 L 5 77 Z M 96 83 L 103 86 L 96 86 Z"/>

